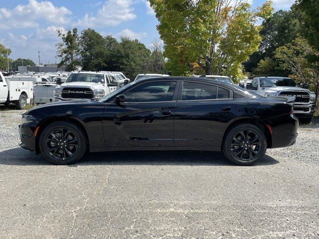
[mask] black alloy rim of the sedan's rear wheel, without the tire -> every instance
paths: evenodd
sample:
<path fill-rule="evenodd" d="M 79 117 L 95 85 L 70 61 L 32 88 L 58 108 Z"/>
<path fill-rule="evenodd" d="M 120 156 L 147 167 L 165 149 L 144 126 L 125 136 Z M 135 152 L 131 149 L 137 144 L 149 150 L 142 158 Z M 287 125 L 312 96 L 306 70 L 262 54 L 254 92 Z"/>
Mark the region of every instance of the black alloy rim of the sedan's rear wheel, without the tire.
<path fill-rule="evenodd" d="M 241 130 L 231 140 L 231 151 L 240 160 L 252 160 L 261 151 L 261 140 L 253 130 Z"/>

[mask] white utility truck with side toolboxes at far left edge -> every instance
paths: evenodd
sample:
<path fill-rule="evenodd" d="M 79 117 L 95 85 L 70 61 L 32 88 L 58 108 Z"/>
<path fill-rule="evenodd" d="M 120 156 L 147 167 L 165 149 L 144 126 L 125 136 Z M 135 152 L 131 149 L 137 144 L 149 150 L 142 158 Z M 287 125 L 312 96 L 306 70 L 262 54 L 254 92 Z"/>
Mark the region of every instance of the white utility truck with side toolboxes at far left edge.
<path fill-rule="evenodd" d="M 30 77 L 6 79 L 0 72 L 0 104 L 15 103 L 16 109 L 24 109 L 33 99 L 33 81 Z"/>

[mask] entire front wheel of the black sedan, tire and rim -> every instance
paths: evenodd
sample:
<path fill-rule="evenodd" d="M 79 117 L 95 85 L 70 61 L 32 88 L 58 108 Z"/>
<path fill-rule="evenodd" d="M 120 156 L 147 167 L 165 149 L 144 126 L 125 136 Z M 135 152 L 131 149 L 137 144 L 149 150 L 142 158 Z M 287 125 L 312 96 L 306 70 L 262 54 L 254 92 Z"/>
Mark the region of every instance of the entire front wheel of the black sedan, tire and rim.
<path fill-rule="evenodd" d="M 87 141 L 84 132 L 77 125 L 60 121 L 44 128 L 39 138 L 39 148 L 47 161 L 66 165 L 83 157 Z"/>

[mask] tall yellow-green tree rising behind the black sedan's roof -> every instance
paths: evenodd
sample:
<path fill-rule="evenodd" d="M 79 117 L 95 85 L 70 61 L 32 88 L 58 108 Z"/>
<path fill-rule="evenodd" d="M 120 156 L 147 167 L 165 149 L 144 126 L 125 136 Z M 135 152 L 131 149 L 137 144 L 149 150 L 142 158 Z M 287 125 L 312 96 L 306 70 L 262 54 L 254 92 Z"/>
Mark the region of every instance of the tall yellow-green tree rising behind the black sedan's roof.
<path fill-rule="evenodd" d="M 243 0 L 150 0 L 159 20 L 167 68 L 189 74 L 196 62 L 206 74 L 235 74 L 258 49 L 257 20 L 271 15 L 271 1 L 252 11 Z"/>

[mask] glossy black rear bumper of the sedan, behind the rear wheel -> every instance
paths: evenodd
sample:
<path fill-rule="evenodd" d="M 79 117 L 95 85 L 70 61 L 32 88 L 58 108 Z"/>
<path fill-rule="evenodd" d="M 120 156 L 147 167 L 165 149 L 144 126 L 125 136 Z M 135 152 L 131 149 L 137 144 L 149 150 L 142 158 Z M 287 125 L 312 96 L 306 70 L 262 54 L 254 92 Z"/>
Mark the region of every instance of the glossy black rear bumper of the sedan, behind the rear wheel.
<path fill-rule="evenodd" d="M 270 125 L 272 133 L 271 148 L 281 148 L 293 145 L 298 136 L 299 120 L 291 114 L 265 120 Z"/>

